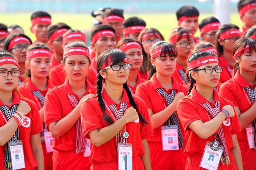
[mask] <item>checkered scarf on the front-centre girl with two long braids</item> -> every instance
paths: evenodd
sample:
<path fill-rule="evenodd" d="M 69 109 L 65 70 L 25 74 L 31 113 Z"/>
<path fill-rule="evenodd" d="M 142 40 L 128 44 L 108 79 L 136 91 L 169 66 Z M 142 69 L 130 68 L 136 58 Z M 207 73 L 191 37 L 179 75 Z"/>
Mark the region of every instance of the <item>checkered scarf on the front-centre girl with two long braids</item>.
<path fill-rule="evenodd" d="M 124 114 L 124 112 L 127 108 L 127 103 L 126 102 L 121 102 L 119 110 L 117 109 L 115 104 L 109 105 L 109 108 L 112 110 L 112 112 L 116 116 L 116 120 L 118 120 L 123 116 L 123 114 Z M 116 135 L 116 143 L 117 144 L 118 143 L 123 143 L 123 135 L 120 132 Z M 127 141 L 126 141 L 126 143 L 127 143 Z"/>

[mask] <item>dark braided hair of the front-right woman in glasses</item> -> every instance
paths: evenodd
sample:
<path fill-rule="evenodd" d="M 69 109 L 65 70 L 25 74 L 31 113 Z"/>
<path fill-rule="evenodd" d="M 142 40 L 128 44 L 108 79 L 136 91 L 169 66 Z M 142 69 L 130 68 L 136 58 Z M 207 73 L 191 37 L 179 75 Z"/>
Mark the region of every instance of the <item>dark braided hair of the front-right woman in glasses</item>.
<path fill-rule="evenodd" d="M 204 58 L 204 57 L 207 57 L 207 56 L 215 56 L 215 54 L 213 52 L 210 52 L 210 51 L 198 51 L 198 52 L 192 53 L 189 56 L 188 63 L 191 62 L 191 61 L 194 61 L 196 59 Z M 194 68 L 190 71 L 196 71 L 197 68 Z M 194 83 L 196 83 L 195 79 L 191 76 L 190 71 L 189 71 L 189 83 L 190 83 L 190 85 L 189 85 L 189 92 L 187 93 L 187 95 L 189 95 L 191 93 L 191 90 L 194 87 Z"/>

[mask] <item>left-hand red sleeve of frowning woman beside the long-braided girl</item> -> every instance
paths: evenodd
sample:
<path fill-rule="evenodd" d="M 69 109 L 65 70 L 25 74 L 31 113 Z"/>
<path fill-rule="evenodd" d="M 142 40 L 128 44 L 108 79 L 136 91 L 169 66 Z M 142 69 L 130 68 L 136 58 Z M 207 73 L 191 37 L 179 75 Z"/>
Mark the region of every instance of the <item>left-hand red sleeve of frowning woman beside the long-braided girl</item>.
<path fill-rule="evenodd" d="M 54 90 L 51 89 L 45 96 L 44 120 L 47 130 L 50 123 L 62 119 L 61 102 Z"/>

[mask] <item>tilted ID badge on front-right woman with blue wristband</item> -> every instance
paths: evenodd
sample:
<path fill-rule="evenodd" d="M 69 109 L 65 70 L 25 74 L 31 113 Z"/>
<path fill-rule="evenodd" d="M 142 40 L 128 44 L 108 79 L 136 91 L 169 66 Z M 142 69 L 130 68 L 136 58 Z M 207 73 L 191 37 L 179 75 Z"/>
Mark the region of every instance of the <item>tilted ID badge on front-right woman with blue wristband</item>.
<path fill-rule="evenodd" d="M 211 149 L 211 142 L 207 142 L 202 155 L 200 167 L 208 170 L 217 170 L 220 164 L 220 158 L 223 152 L 223 146 L 220 146 L 219 150 Z"/>

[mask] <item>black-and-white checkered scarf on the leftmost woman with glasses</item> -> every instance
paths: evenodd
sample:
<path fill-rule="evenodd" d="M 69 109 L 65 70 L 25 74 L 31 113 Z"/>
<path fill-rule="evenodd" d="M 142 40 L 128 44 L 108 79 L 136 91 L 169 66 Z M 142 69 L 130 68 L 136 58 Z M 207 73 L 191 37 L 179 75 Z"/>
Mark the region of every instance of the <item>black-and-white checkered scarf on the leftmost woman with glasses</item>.
<path fill-rule="evenodd" d="M 12 118 L 12 115 L 16 112 L 17 110 L 17 104 L 12 105 L 12 109 L 8 109 L 7 106 L 2 105 L 0 106 L 0 109 L 2 110 L 3 114 L 5 114 L 7 121 L 10 121 Z M 19 128 L 15 131 L 15 136 L 12 136 L 9 141 L 17 141 L 19 140 Z M 9 142 L 8 141 L 8 142 Z M 6 149 L 4 152 L 4 166 L 7 170 L 12 170 L 12 159 L 10 155 L 10 148 L 8 142 L 6 143 Z"/>

